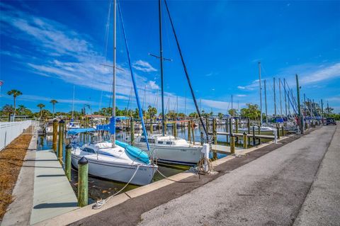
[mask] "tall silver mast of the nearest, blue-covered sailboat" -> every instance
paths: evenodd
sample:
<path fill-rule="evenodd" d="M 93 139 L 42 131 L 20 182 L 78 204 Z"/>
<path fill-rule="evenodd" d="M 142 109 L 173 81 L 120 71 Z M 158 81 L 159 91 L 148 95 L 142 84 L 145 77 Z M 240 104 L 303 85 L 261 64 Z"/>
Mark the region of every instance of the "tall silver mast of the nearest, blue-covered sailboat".
<path fill-rule="evenodd" d="M 115 50 L 116 50 L 116 6 L 117 0 L 113 0 L 113 81 L 112 81 L 112 117 L 115 120 Z M 115 125 L 115 123 L 113 124 Z M 115 130 L 115 128 L 113 128 Z M 112 146 L 115 147 L 115 134 L 111 135 Z"/>

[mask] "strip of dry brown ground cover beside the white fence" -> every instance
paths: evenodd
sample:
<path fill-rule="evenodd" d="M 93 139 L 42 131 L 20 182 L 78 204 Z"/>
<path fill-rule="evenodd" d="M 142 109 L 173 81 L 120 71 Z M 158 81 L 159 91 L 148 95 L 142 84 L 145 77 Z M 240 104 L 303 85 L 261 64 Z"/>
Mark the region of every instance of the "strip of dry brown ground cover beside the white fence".
<path fill-rule="evenodd" d="M 16 185 L 23 159 L 26 155 L 32 135 L 20 135 L 0 151 L 0 221 L 12 202 L 12 191 Z"/>

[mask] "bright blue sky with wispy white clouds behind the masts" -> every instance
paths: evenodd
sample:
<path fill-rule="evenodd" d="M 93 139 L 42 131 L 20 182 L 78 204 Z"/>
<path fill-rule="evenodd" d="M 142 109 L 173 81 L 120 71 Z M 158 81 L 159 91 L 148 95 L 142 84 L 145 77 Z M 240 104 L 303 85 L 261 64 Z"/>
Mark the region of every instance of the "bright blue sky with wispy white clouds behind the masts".
<path fill-rule="evenodd" d="M 160 107 L 157 1 L 120 1 L 139 94 L 145 106 Z M 110 1 L 1 1 L 1 103 L 18 89 L 18 104 L 38 111 L 70 111 L 90 104 L 92 111 L 110 101 L 112 10 Z M 112 7 L 112 6 L 111 6 Z M 169 1 L 176 33 L 198 103 L 205 111 L 225 113 L 259 103 L 259 70 L 267 80 L 268 113 L 273 113 L 273 77 L 340 112 L 340 1 Z M 106 25 L 109 19 L 108 33 Z M 165 104 L 194 110 L 185 74 L 163 8 Z M 107 34 L 107 35 L 106 35 Z M 107 45 L 106 45 L 107 38 Z M 117 34 L 117 104 L 135 107 L 123 35 Z M 277 86 L 278 87 L 278 84 Z M 187 98 L 185 98 L 187 96 Z M 277 95 L 279 101 L 279 95 Z M 264 108 L 264 106 L 263 106 Z"/>

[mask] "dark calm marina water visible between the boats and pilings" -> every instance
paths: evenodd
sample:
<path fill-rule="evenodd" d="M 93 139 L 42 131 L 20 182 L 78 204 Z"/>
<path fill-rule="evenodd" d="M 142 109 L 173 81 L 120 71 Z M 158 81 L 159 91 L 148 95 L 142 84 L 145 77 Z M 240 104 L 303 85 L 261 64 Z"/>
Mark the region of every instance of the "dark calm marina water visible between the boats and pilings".
<path fill-rule="evenodd" d="M 157 131 L 154 131 L 154 132 L 157 132 Z M 182 130 L 181 128 L 179 128 L 177 132 L 178 132 L 179 137 L 183 137 L 183 138 L 188 137 L 188 132 L 184 128 Z M 168 133 L 172 134 L 171 128 L 168 128 Z M 194 130 L 194 133 L 195 133 L 195 141 L 199 142 L 200 141 L 200 130 L 196 128 Z M 123 132 L 118 132 L 116 137 L 118 140 L 123 140 Z M 82 140 L 84 138 L 86 140 L 89 139 L 89 135 L 87 135 L 86 137 L 81 137 L 79 140 Z M 221 141 L 223 142 L 222 136 L 219 137 L 219 139 L 221 139 Z M 43 135 L 39 137 L 38 150 L 45 150 L 45 149 L 52 149 L 52 135 Z M 226 156 L 225 154 L 217 154 L 218 158 L 222 158 L 225 156 Z M 161 171 L 162 174 L 164 174 L 165 176 L 173 176 L 187 169 L 189 169 L 189 166 L 175 166 L 175 168 L 169 167 L 169 166 L 159 166 L 159 171 Z M 72 187 L 74 188 L 74 191 L 77 194 L 78 174 L 75 169 L 71 171 L 71 177 L 72 177 L 72 181 L 71 181 Z M 154 179 L 152 180 L 152 182 L 159 181 L 162 179 L 164 179 L 164 177 L 160 175 L 158 172 L 156 172 L 156 174 L 154 174 Z M 114 193 L 119 191 L 124 186 L 125 186 L 125 183 L 120 183 L 117 181 L 109 181 L 109 180 L 100 179 L 94 176 L 89 176 L 89 200 L 90 202 L 94 202 L 95 200 L 98 200 L 100 198 L 107 198 L 108 196 L 112 196 Z M 123 191 L 130 191 L 137 187 L 138 186 L 135 186 L 135 185 L 128 185 Z"/>

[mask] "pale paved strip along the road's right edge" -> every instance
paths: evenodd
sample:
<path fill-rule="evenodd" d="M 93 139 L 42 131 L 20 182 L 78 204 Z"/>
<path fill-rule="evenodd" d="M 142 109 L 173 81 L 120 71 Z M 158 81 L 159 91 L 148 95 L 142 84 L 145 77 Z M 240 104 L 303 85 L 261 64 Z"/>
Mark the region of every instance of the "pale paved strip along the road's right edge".
<path fill-rule="evenodd" d="M 339 123 L 339 122 L 338 122 Z M 294 225 L 340 225 L 340 126 Z"/>

